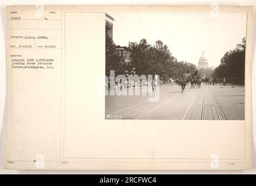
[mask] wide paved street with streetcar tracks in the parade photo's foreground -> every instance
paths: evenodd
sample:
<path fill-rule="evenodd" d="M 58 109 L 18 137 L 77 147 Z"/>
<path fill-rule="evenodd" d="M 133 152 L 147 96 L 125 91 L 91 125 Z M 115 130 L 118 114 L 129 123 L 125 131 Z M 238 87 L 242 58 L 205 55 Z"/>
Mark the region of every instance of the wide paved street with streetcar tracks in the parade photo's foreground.
<path fill-rule="evenodd" d="M 149 95 L 105 96 L 106 119 L 244 120 L 244 87 L 239 85 L 160 86 L 157 102 Z"/>

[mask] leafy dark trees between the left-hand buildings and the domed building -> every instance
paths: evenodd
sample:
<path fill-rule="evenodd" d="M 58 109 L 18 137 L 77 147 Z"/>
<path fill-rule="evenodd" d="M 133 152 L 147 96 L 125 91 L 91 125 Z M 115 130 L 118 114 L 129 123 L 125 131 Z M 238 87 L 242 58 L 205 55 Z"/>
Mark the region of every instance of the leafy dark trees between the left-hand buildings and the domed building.
<path fill-rule="evenodd" d="M 132 48 L 131 66 L 136 68 L 138 75 L 158 74 L 160 78 L 166 80 L 169 77 L 179 77 L 187 71 L 194 73 L 196 70 L 192 63 L 178 62 L 161 40 L 157 40 L 155 45 L 151 46 L 145 39 Z"/>

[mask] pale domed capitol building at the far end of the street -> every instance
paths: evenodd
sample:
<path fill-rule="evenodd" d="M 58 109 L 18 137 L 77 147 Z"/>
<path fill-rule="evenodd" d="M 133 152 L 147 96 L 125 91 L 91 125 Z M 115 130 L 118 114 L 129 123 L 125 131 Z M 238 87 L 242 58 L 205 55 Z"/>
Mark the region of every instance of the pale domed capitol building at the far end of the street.
<path fill-rule="evenodd" d="M 214 72 L 215 67 L 209 66 L 208 59 L 204 55 L 204 51 L 202 51 L 202 55 L 198 60 L 197 70 L 201 78 L 210 77 Z"/>

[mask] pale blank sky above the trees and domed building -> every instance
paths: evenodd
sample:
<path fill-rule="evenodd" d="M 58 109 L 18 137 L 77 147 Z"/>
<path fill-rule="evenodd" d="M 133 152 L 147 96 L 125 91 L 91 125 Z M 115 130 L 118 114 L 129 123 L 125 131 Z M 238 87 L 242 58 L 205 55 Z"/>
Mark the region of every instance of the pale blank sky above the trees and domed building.
<path fill-rule="evenodd" d="M 117 13 L 113 41 L 127 46 L 145 38 L 151 45 L 161 40 L 179 61 L 198 65 L 202 51 L 210 66 L 218 66 L 225 52 L 246 37 L 246 14 L 220 13 Z"/>

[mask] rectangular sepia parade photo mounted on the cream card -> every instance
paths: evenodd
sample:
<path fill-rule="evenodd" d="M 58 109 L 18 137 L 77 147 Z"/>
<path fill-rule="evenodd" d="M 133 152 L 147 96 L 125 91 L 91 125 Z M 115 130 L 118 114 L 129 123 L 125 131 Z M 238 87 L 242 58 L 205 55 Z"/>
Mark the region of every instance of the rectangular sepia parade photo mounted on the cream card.
<path fill-rule="evenodd" d="M 105 15 L 105 119 L 244 120 L 247 15 Z"/>

